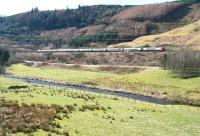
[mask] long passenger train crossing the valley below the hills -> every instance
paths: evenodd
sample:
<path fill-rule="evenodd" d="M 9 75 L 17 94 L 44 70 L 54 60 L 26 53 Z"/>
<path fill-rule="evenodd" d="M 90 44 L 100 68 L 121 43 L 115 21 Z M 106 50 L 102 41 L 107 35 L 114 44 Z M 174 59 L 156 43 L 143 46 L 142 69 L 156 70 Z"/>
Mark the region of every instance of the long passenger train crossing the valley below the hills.
<path fill-rule="evenodd" d="M 85 49 L 47 49 L 38 52 L 154 52 L 165 51 L 164 47 L 141 47 L 141 48 L 85 48 Z"/>

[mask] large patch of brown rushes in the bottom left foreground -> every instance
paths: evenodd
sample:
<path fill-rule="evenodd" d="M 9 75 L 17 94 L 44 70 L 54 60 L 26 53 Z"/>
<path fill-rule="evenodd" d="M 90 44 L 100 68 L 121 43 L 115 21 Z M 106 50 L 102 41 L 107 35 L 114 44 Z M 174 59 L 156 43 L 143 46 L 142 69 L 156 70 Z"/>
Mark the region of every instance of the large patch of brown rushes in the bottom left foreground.
<path fill-rule="evenodd" d="M 67 107 L 72 111 L 72 107 Z M 0 135 L 5 130 L 6 133 L 32 133 L 37 129 L 43 129 L 48 132 L 57 133 L 54 131 L 55 118 L 62 120 L 60 116 L 63 108 L 59 105 L 41 105 L 41 104 L 21 104 L 14 101 L 0 100 Z M 66 114 L 67 115 L 67 114 Z M 60 124 L 56 124 L 56 128 L 61 128 Z M 60 132 L 59 132 L 60 133 Z M 66 131 L 67 135 L 67 131 Z"/>

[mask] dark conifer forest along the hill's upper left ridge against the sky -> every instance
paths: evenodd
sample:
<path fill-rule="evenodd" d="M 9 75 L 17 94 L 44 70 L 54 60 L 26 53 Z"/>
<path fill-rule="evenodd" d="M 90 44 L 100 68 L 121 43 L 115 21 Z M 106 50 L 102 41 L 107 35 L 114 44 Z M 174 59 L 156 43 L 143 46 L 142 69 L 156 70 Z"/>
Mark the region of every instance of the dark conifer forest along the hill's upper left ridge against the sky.
<path fill-rule="evenodd" d="M 20 28 L 21 31 L 42 31 L 68 27 L 84 27 L 90 24 L 106 24 L 110 18 L 124 7 L 118 5 L 79 6 L 78 9 L 39 11 L 38 8 L 30 12 L 0 18 L 1 25 L 6 28 Z M 15 26 L 15 27 L 13 27 Z M 19 30 L 18 30 L 19 31 Z"/>

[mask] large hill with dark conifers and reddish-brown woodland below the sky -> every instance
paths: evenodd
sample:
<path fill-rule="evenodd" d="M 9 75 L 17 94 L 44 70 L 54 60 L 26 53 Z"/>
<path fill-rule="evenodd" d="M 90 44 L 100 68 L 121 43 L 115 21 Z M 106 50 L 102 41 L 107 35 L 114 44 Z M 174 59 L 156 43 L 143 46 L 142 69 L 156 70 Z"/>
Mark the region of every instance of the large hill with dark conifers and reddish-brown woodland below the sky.
<path fill-rule="evenodd" d="M 129 42 L 200 19 L 200 4 L 98 5 L 0 18 L 0 37 L 16 44 L 88 47 Z M 156 9 L 156 10 L 154 10 Z M 5 40 L 5 41 L 8 41 Z M 6 43 L 6 42 L 5 42 Z"/>

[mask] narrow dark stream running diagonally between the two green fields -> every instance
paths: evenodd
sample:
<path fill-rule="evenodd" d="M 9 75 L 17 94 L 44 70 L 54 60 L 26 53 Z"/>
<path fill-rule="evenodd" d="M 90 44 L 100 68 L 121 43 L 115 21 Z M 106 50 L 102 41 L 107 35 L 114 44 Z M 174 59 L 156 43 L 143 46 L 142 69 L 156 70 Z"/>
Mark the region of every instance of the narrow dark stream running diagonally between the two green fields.
<path fill-rule="evenodd" d="M 173 104 L 173 102 L 170 102 L 165 99 L 153 98 L 149 96 L 143 96 L 143 95 L 127 93 L 127 92 L 112 91 L 108 89 L 99 89 L 99 88 L 86 87 L 86 86 L 81 86 L 81 85 L 64 84 L 64 83 L 52 82 L 52 81 L 46 81 L 46 80 L 40 80 L 40 79 L 21 78 L 21 77 L 15 77 L 12 75 L 5 75 L 4 77 L 12 79 L 12 80 L 17 80 L 21 82 L 27 82 L 27 83 L 32 83 L 32 84 L 37 84 L 37 85 L 42 85 L 42 86 L 61 87 L 61 88 L 66 89 L 66 91 L 67 89 L 73 89 L 77 91 L 79 90 L 79 91 L 85 91 L 85 92 L 94 92 L 94 93 L 99 93 L 99 94 L 112 95 L 112 96 L 123 97 L 127 99 L 139 100 L 143 102 L 149 102 L 149 103 L 160 104 L 160 105 Z"/>

